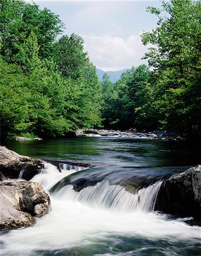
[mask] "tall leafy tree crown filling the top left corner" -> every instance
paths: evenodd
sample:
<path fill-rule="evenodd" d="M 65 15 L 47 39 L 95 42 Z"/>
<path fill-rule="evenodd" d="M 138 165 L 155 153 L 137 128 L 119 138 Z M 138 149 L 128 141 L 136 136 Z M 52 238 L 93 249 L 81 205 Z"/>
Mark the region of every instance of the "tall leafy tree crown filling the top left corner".
<path fill-rule="evenodd" d="M 41 59 L 55 55 L 56 36 L 62 31 L 63 24 L 57 15 L 45 8 L 21 0 L 1 0 L 0 2 L 0 37 L 1 55 L 13 63 L 22 44 L 33 32 L 40 46 Z"/>

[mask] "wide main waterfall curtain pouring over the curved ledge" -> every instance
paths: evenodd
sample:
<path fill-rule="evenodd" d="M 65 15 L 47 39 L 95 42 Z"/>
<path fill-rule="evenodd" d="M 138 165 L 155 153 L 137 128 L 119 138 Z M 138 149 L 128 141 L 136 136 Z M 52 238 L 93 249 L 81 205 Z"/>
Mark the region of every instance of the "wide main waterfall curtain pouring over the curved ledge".
<path fill-rule="evenodd" d="M 118 212 L 154 210 L 158 191 L 162 181 L 149 185 L 147 188 L 139 189 L 136 194 L 129 193 L 120 185 L 111 185 L 109 181 L 103 180 L 93 187 L 83 188 L 76 192 L 72 185 L 66 185 L 55 193 L 55 197 L 80 201 L 91 207 L 110 208 Z"/>

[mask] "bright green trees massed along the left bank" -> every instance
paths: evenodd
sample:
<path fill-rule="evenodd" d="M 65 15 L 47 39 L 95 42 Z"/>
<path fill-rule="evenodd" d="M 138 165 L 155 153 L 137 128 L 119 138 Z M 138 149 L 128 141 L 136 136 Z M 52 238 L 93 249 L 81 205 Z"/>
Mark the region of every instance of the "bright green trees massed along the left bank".
<path fill-rule="evenodd" d="M 83 39 L 50 10 L 0 1 L 1 137 L 65 135 L 101 123 L 101 85 Z"/>

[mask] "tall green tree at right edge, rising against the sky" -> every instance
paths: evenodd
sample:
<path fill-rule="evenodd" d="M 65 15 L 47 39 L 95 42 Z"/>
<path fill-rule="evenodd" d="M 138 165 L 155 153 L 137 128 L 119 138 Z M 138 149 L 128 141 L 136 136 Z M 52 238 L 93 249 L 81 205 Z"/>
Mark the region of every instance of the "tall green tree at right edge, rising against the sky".
<path fill-rule="evenodd" d="M 145 58 L 157 76 L 153 105 L 161 127 L 188 134 L 201 129 L 200 7 L 193 0 L 162 1 L 162 10 L 148 7 L 158 26 L 142 35 L 144 44 L 155 46 Z"/>

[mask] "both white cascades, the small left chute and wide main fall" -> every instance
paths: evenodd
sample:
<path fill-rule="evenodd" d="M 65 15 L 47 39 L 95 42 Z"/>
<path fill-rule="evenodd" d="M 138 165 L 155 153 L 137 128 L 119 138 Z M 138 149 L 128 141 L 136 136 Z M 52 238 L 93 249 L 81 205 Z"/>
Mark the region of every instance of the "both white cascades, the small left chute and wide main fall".
<path fill-rule="evenodd" d="M 84 167 L 72 166 L 71 164 L 60 163 L 59 170 L 51 163 L 45 163 L 40 174 L 35 175 L 31 181 L 40 183 L 48 190 L 64 177 L 83 170 Z M 158 191 L 162 181 L 141 188 L 135 194 L 129 193 L 124 187 L 118 184 L 110 184 L 108 180 L 102 180 L 94 186 L 89 186 L 76 192 L 73 185 L 66 185 L 54 193 L 54 197 L 70 199 L 90 205 L 91 207 L 113 209 L 119 212 L 154 210 Z"/>

